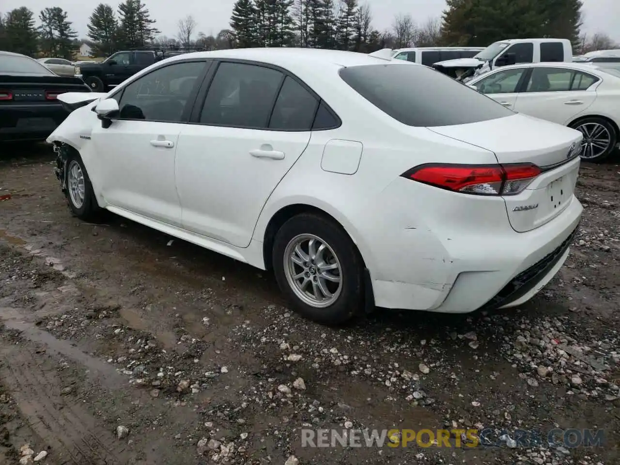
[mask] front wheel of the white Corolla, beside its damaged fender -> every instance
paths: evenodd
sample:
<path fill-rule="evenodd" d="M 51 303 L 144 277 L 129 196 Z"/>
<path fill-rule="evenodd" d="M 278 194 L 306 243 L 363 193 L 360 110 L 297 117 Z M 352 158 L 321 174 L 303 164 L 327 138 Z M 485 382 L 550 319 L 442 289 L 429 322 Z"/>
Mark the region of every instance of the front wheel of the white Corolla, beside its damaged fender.
<path fill-rule="evenodd" d="M 101 209 L 82 157 L 76 152 L 71 152 L 67 157 L 64 182 L 66 185 L 64 196 L 73 215 L 85 221 L 98 219 Z"/>

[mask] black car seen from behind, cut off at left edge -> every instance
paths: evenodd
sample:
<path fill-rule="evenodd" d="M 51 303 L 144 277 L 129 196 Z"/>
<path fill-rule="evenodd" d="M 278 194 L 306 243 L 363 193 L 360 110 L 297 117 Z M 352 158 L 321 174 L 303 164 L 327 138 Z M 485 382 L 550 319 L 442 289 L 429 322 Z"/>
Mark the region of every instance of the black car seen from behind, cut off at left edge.
<path fill-rule="evenodd" d="M 56 98 L 64 92 L 91 89 L 28 56 L 0 51 L 0 141 L 45 140 L 69 114 Z"/>

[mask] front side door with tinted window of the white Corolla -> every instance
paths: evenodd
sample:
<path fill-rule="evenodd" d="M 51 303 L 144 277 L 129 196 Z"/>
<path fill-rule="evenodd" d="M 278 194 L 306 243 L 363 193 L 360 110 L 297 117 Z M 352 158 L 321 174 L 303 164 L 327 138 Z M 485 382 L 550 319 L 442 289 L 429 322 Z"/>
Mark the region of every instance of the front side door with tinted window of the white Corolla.
<path fill-rule="evenodd" d="M 205 61 L 157 68 L 112 95 L 118 117 L 91 134 L 100 192 L 112 207 L 180 226 L 175 151 Z"/>

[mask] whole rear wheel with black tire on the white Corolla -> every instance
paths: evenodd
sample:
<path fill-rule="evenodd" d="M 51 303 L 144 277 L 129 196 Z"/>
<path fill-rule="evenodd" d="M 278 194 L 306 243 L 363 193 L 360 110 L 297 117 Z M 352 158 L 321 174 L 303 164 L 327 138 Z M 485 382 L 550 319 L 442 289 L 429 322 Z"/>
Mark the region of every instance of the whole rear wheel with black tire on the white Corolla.
<path fill-rule="evenodd" d="M 310 241 L 314 241 L 314 257 Z M 301 254 L 295 252 L 296 246 Z M 308 261 L 301 263 L 303 259 Z M 278 286 L 301 316 L 337 325 L 351 321 L 363 309 L 363 260 L 348 234 L 332 219 L 315 213 L 288 219 L 275 235 L 272 260 Z M 302 288 L 304 282 L 309 288 Z"/>

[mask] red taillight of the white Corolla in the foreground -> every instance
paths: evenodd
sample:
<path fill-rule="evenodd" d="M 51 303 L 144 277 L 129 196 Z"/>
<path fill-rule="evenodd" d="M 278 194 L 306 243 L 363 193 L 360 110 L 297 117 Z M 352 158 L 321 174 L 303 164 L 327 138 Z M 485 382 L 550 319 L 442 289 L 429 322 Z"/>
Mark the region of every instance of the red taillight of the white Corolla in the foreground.
<path fill-rule="evenodd" d="M 541 173 L 531 163 L 505 165 L 424 164 L 403 177 L 423 184 L 477 195 L 516 195 Z"/>

